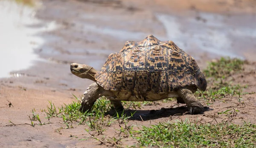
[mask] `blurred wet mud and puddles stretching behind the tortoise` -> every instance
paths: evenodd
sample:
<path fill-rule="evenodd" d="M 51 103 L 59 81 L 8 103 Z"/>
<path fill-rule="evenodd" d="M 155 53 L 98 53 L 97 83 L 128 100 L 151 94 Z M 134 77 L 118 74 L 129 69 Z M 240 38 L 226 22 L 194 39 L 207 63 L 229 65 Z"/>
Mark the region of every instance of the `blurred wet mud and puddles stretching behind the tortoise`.
<path fill-rule="evenodd" d="M 149 34 L 202 69 L 221 56 L 256 61 L 256 0 L 0 0 L 0 78 L 82 91 L 91 81 L 81 83 L 70 63 L 100 70 L 126 41 Z"/>

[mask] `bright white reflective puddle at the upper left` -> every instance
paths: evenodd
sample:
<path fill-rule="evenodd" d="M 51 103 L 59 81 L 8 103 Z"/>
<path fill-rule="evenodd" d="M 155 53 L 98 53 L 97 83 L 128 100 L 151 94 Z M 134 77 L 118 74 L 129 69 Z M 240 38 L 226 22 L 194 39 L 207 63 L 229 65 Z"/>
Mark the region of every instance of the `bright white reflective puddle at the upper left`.
<path fill-rule="evenodd" d="M 11 71 L 26 69 L 33 61 L 42 60 L 34 49 L 45 41 L 37 34 L 57 27 L 55 22 L 42 23 L 34 15 L 32 7 L 0 0 L 0 77 L 9 77 Z"/>

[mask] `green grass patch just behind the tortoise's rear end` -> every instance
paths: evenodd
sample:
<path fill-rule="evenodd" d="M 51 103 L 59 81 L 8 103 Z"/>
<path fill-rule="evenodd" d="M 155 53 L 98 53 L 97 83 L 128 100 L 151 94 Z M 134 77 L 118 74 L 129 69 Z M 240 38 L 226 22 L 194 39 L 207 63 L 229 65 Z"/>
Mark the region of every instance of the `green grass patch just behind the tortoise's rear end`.
<path fill-rule="evenodd" d="M 197 91 L 195 96 L 198 99 L 205 99 L 207 102 L 216 101 L 226 96 L 240 95 L 244 88 L 239 84 L 232 84 L 227 81 L 231 74 L 239 73 L 246 61 L 240 59 L 230 59 L 222 57 L 218 61 L 209 62 L 207 68 L 203 70 L 207 78 L 207 87 L 205 92 Z"/>

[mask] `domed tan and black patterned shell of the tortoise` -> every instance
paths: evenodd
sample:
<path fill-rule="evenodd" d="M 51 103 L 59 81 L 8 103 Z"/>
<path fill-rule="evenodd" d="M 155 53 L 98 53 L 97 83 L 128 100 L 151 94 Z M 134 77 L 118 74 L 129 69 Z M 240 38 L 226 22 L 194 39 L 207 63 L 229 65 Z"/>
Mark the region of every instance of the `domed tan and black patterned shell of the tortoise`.
<path fill-rule="evenodd" d="M 192 56 L 174 42 L 161 42 L 153 35 L 138 43 L 126 42 L 122 50 L 108 56 L 95 78 L 106 90 L 136 91 L 142 95 L 172 92 L 186 86 L 204 91 L 207 87 Z"/>

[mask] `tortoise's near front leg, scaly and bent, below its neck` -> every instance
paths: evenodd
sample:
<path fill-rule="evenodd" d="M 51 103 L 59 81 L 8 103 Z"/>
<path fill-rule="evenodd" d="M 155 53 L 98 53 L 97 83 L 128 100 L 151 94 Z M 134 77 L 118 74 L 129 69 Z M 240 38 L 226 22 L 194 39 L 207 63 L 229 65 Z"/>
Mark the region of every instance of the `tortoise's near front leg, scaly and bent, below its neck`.
<path fill-rule="evenodd" d="M 84 92 L 84 96 L 82 97 L 81 112 L 90 111 L 93 107 L 93 104 L 96 102 L 98 98 L 102 96 L 102 92 L 104 89 L 102 87 L 99 87 L 98 84 L 93 83 L 90 84 L 90 86 L 86 89 Z"/>

